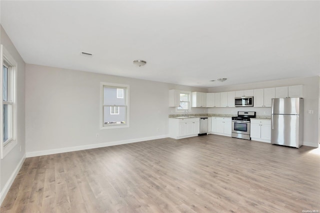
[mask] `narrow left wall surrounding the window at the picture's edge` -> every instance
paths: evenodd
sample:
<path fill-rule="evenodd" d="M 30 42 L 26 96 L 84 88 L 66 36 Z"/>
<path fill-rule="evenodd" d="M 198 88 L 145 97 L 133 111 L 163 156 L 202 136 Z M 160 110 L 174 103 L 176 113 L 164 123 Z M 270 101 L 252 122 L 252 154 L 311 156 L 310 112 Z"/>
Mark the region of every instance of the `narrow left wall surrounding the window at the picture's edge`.
<path fill-rule="evenodd" d="M 24 113 L 24 66 L 25 63 L 15 49 L 4 29 L 0 28 L 0 42 L 17 62 L 17 145 L 0 159 L 0 194 L 1 202 L 9 189 L 15 174 L 25 158 L 25 113 Z M 2 106 L 1 106 L 2 107 Z M 21 151 L 20 151 L 21 146 Z"/>

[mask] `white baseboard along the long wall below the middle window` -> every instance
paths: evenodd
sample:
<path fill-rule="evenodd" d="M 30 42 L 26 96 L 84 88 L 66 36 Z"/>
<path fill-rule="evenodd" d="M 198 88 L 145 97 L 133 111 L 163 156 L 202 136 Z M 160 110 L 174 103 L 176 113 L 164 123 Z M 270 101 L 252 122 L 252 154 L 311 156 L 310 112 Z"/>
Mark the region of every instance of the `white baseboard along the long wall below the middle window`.
<path fill-rule="evenodd" d="M 35 156 L 42 156 L 47 154 L 57 154 L 57 153 L 63 153 L 63 152 L 69 152 L 69 151 L 79 151 L 79 150 L 90 149 L 90 148 L 100 148 L 100 147 L 106 147 L 111 145 L 120 145 L 125 143 L 161 139 L 165 137 L 168 137 L 168 135 L 157 135 L 157 136 L 141 137 L 141 138 L 135 138 L 135 139 L 129 139 L 129 140 L 118 140 L 118 141 L 79 145 L 79 146 L 72 146 L 72 147 L 65 147 L 65 148 L 47 149 L 42 151 L 31 151 L 31 152 L 26 152 L 26 157 L 35 157 Z"/>

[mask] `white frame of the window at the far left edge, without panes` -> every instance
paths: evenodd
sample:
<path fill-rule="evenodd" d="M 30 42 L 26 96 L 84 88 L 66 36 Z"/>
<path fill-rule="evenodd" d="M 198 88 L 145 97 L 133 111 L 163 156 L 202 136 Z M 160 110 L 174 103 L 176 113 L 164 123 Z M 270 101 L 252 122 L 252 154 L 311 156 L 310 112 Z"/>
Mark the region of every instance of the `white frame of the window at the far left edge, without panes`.
<path fill-rule="evenodd" d="M 1 158 L 3 158 L 9 151 L 17 144 L 16 140 L 16 70 L 17 70 L 17 63 L 10 55 L 10 53 L 4 48 L 1 44 L 1 77 L 0 77 L 0 99 L 1 99 L 1 106 L 0 106 L 0 149 L 1 149 Z M 3 101 L 3 65 L 8 66 L 8 87 L 9 87 L 9 101 Z M 9 120 L 9 138 L 4 142 L 3 141 L 3 104 L 10 104 L 11 105 L 11 119 Z"/>

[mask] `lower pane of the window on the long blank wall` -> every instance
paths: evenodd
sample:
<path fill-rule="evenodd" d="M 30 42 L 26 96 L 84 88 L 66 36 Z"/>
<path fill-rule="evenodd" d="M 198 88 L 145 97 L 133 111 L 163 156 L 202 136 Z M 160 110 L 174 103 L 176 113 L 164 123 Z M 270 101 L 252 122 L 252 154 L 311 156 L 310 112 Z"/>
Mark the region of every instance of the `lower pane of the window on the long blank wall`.
<path fill-rule="evenodd" d="M 115 109 L 111 109 L 113 107 Z M 111 110 L 118 111 L 118 114 L 111 114 Z M 123 124 L 125 123 L 125 106 L 103 106 L 103 124 Z"/>

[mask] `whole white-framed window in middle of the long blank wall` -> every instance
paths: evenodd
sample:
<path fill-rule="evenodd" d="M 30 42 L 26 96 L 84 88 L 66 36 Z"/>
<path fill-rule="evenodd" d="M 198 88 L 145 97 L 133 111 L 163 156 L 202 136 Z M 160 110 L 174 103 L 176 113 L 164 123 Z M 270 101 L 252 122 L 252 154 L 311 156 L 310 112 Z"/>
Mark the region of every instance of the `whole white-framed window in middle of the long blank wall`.
<path fill-rule="evenodd" d="M 101 120 L 104 128 L 129 126 L 129 85 L 101 83 Z"/>

